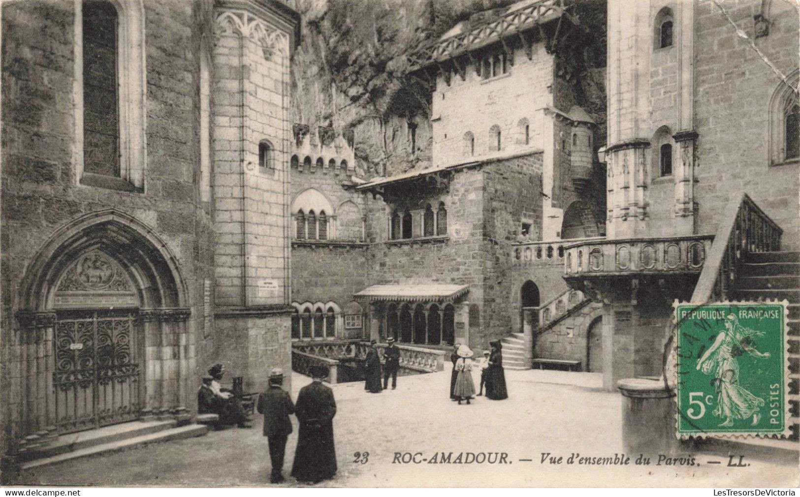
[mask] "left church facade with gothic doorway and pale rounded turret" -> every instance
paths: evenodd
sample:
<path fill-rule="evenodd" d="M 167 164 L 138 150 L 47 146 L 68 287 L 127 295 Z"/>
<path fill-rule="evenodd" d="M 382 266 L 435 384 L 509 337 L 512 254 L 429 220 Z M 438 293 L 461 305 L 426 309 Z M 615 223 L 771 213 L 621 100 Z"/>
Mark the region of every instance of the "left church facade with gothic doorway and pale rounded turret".
<path fill-rule="evenodd" d="M 279 2 L 2 8 L 3 449 L 290 369 Z M 146 28 L 146 29 L 145 29 Z"/>

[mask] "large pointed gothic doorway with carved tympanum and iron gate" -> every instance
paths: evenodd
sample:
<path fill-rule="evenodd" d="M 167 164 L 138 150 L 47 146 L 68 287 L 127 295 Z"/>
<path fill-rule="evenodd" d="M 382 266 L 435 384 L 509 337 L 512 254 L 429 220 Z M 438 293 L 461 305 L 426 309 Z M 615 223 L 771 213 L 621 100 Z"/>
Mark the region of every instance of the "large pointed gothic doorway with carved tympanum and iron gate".
<path fill-rule="evenodd" d="M 184 415 L 194 405 L 188 351 L 161 352 L 168 337 L 189 343 L 176 261 L 152 229 L 114 209 L 54 233 L 20 294 L 22 336 L 43 345 L 41 356 L 28 355 L 35 373 L 19 392 L 27 406 L 22 433 L 80 431 L 150 412 Z M 162 377 L 167 371 L 174 373 Z"/>

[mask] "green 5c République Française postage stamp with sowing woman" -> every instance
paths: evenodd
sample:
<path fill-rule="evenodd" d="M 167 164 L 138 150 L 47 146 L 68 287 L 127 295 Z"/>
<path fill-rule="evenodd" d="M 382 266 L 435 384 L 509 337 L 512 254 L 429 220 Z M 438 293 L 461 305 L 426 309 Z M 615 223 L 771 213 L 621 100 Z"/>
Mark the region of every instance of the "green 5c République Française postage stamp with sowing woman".
<path fill-rule="evenodd" d="M 677 304 L 678 438 L 788 435 L 786 301 Z"/>

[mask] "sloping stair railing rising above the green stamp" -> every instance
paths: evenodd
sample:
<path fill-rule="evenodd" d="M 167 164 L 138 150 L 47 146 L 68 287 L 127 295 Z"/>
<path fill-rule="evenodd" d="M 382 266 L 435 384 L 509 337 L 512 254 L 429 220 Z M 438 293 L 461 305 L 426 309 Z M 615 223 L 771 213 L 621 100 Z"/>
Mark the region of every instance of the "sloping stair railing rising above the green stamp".
<path fill-rule="evenodd" d="M 748 252 L 771 252 L 781 248 L 783 230 L 746 193 L 731 201 L 725 213 L 694 287 L 692 302 L 726 300 L 736 283 L 738 265 Z"/>

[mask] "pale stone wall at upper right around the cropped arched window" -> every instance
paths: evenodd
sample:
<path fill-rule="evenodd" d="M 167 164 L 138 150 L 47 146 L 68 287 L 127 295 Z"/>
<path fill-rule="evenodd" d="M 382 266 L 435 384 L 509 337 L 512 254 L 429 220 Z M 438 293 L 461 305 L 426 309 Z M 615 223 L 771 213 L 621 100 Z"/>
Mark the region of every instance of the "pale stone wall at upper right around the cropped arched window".
<path fill-rule="evenodd" d="M 729 9 L 734 22 L 754 37 L 761 2 Z M 800 248 L 798 162 L 770 165 L 770 98 L 780 80 L 713 3 L 695 6 L 694 112 L 697 140 L 695 197 L 698 233 L 714 233 L 731 198 L 747 193 L 784 230 L 782 246 Z M 769 34 L 756 45 L 797 84 L 798 22 L 794 6 L 774 2 Z M 713 49 L 713 50 L 712 50 Z"/>

